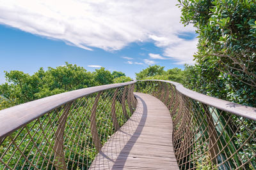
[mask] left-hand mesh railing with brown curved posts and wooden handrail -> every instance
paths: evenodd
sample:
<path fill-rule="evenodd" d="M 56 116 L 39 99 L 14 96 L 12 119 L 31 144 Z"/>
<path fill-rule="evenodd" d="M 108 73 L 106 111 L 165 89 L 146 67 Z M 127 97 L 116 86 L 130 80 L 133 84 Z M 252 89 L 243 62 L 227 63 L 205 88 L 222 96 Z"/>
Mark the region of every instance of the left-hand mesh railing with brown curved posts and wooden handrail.
<path fill-rule="evenodd" d="M 95 92 L 82 97 L 69 92 L 74 99 L 54 108 L 49 104 L 60 95 L 42 99 L 37 103 L 47 110 L 42 113 L 29 108 L 36 102 L 25 104 L 22 110 L 15 106 L 14 112 L 2 110 L 1 122 L 9 121 L 4 117 L 14 120 L 0 128 L 0 169 L 89 169 L 102 145 L 136 108 L 134 82 L 93 88 Z M 26 115 L 26 111 L 35 114 Z M 10 130 L 3 132 L 4 128 Z"/>

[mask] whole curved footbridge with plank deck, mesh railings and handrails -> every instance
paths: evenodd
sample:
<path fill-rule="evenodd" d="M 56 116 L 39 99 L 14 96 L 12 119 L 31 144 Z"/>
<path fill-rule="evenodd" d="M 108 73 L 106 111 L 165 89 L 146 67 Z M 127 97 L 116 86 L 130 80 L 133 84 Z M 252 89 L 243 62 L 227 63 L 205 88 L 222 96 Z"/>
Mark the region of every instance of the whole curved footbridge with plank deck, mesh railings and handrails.
<path fill-rule="evenodd" d="M 256 169 L 256 108 L 164 80 L 0 111 L 0 169 Z"/>

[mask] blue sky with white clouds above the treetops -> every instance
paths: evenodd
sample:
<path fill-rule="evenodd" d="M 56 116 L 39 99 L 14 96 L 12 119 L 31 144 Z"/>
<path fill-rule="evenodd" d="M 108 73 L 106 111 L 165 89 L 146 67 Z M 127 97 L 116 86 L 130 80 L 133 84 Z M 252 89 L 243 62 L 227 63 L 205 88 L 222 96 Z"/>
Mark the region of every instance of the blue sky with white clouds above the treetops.
<path fill-rule="evenodd" d="M 170 0 L 0 0 L 0 83 L 4 71 L 33 74 L 65 62 L 88 71 L 135 73 L 154 64 L 193 64 L 195 29 Z"/>

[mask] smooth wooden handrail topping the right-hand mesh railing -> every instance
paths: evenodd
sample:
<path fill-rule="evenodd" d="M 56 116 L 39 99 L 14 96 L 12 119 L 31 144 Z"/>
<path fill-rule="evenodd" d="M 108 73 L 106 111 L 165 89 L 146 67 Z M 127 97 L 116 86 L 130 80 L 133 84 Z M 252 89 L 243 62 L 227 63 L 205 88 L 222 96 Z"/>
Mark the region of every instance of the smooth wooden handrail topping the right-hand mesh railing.
<path fill-rule="evenodd" d="M 225 101 L 222 99 L 218 99 L 216 97 L 207 96 L 205 94 L 200 94 L 193 90 L 186 89 L 182 84 L 177 83 L 175 81 L 167 81 L 167 80 L 139 80 L 139 81 L 162 81 L 166 83 L 171 83 L 175 86 L 176 90 L 196 101 L 200 101 L 201 103 L 207 104 L 209 106 L 213 106 L 214 108 L 218 108 L 223 111 L 228 111 L 230 113 L 234 113 L 237 116 L 249 118 L 251 120 L 256 121 L 256 108 L 250 106 L 244 106 L 242 104 L 232 103 L 230 101 Z"/>

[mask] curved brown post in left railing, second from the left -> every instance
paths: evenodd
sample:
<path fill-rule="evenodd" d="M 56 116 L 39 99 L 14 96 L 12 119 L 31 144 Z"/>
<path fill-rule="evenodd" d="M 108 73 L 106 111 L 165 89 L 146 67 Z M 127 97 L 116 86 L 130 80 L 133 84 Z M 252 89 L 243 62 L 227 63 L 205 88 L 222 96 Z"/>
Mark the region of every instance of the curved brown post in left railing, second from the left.
<path fill-rule="evenodd" d="M 99 97 L 100 97 L 101 94 L 102 94 L 102 92 L 99 92 L 97 94 L 96 98 L 95 98 L 95 101 L 94 101 L 93 106 L 92 106 L 91 117 L 90 117 L 90 119 L 91 119 L 90 128 L 91 128 L 91 131 L 92 131 L 92 140 L 93 140 L 95 148 L 98 152 L 100 151 L 100 148 L 102 148 L 102 144 L 100 142 L 99 134 L 98 134 L 98 131 L 97 131 L 96 110 L 97 110 L 97 104 L 98 104 L 98 101 L 99 101 Z"/>

